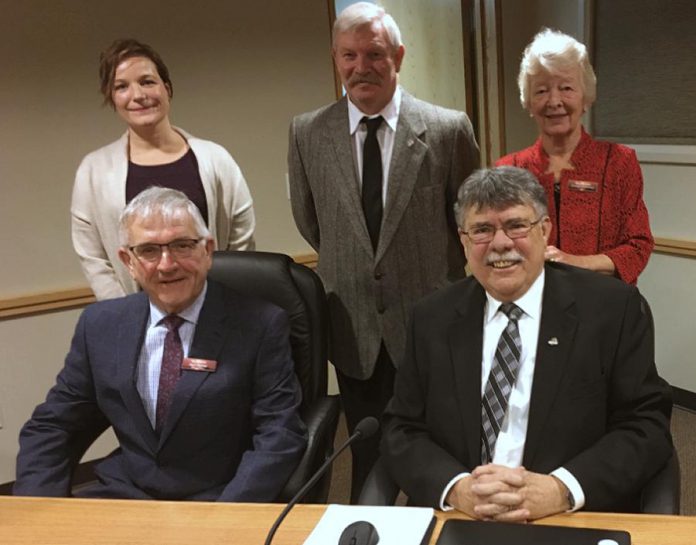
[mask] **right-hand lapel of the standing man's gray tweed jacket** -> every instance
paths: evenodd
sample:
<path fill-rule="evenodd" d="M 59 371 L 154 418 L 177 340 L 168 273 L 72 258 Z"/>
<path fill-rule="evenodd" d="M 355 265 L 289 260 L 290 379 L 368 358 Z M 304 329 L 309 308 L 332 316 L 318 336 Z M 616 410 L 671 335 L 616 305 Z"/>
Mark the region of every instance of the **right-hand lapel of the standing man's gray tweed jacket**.
<path fill-rule="evenodd" d="M 394 149 L 389 163 L 387 202 L 375 261 L 382 258 L 394 238 L 404 211 L 413 197 L 413 187 L 428 149 L 422 139 L 427 129 L 425 122 L 415 107 L 413 97 L 405 91 L 402 93 Z"/>

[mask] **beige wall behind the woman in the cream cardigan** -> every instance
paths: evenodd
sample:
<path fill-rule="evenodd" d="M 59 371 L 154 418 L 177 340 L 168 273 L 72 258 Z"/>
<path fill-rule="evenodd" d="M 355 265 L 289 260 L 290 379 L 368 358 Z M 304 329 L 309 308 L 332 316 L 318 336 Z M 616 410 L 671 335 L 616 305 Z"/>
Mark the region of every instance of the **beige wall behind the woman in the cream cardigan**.
<path fill-rule="evenodd" d="M 0 299 L 84 286 L 70 242 L 73 176 L 123 124 L 101 107 L 101 49 L 153 45 L 174 83 L 172 120 L 224 145 L 258 219 L 257 247 L 303 253 L 285 184 L 294 114 L 334 99 L 326 0 L 0 0 Z M 78 311 L 0 321 L 0 482 L 43 399 Z"/>

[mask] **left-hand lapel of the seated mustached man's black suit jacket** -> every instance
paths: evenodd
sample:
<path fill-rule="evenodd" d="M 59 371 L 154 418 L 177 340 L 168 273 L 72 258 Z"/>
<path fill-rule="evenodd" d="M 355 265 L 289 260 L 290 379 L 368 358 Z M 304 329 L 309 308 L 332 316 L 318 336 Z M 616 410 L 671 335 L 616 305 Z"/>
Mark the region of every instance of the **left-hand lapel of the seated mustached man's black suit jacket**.
<path fill-rule="evenodd" d="M 462 430 L 466 440 L 469 467 L 480 464 L 481 428 L 481 359 L 483 356 L 483 308 L 485 291 L 478 282 L 467 285 L 469 291 L 458 298 L 458 319 L 448 330 L 450 354 L 455 380 L 455 392 L 459 403 Z"/>

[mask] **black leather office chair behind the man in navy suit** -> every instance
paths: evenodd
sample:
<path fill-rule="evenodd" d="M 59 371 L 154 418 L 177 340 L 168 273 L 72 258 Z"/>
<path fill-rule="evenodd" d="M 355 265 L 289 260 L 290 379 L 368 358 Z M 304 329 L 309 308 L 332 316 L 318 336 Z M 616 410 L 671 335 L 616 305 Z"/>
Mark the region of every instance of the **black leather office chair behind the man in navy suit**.
<path fill-rule="evenodd" d="M 302 387 L 300 413 L 309 443 L 300 464 L 278 500 L 287 502 L 333 451 L 338 425 L 338 396 L 327 395 L 326 294 L 319 277 L 284 254 L 215 252 L 209 277 L 243 294 L 270 301 L 290 316 L 290 342 L 295 372 Z M 302 500 L 325 503 L 331 473 Z"/>

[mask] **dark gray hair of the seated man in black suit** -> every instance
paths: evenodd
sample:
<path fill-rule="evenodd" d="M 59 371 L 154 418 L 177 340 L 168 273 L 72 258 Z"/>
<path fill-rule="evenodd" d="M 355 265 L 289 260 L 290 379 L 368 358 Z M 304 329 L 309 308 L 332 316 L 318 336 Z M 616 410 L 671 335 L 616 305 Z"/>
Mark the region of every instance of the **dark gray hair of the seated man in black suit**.
<path fill-rule="evenodd" d="M 519 204 L 533 207 L 540 217 L 548 215 L 546 192 L 534 174 L 518 167 L 482 168 L 459 188 L 454 216 L 464 229 L 469 210 L 502 210 Z"/>

